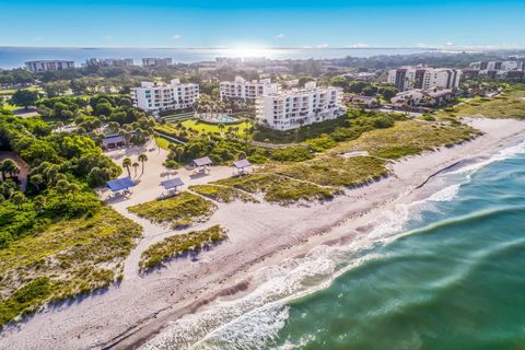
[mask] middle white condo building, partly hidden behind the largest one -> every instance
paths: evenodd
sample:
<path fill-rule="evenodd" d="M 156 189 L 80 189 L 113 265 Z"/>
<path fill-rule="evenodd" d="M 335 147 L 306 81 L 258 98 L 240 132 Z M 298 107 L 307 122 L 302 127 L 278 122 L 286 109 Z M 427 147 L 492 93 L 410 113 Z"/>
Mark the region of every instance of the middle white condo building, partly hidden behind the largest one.
<path fill-rule="evenodd" d="M 221 81 L 221 98 L 255 100 L 258 96 L 275 94 L 279 92 L 279 84 L 271 83 L 269 79 L 259 81 L 246 81 L 236 77 L 234 81 Z"/>

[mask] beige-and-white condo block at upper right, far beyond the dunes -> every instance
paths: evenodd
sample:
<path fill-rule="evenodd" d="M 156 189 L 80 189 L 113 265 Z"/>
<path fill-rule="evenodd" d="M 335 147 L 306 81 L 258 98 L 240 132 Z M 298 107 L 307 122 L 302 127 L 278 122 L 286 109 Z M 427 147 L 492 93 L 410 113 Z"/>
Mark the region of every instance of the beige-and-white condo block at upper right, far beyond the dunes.
<path fill-rule="evenodd" d="M 388 71 L 388 83 L 399 91 L 412 89 L 454 89 L 459 86 L 462 71 L 448 68 L 402 67 Z"/>

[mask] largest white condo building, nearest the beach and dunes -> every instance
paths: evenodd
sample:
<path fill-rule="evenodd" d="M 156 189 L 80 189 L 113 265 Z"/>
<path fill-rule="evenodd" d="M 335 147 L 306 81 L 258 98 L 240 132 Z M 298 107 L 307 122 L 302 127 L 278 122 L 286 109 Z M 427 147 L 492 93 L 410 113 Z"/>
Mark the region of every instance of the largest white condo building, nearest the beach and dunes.
<path fill-rule="evenodd" d="M 262 95 L 256 100 L 257 122 L 277 130 L 290 130 L 342 116 L 342 90 L 317 88 L 308 82 L 304 89 Z"/>

